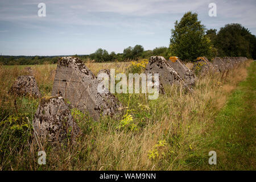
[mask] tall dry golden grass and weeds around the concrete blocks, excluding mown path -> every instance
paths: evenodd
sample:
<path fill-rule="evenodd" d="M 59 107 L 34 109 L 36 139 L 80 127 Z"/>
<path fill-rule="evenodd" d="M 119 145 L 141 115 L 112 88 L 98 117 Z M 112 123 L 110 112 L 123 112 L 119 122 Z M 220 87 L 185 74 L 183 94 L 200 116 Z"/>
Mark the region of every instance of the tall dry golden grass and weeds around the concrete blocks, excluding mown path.
<path fill-rule="evenodd" d="M 92 121 L 88 115 L 78 115 L 76 121 L 83 134 L 75 144 L 52 148 L 28 142 L 38 100 L 13 98 L 8 89 L 22 69 L 0 68 L 1 123 L 10 115 L 27 114 L 28 127 L 23 144 L 15 145 L 16 132 L 6 122 L 0 127 L 0 169 L 26 170 L 176 170 L 197 169 L 208 162 L 205 135 L 214 124 L 214 117 L 224 106 L 226 97 L 246 77 L 246 61 L 226 74 L 208 73 L 199 77 L 193 93 L 183 93 L 177 86 L 165 85 L 165 95 L 157 100 L 147 100 L 145 94 L 115 94 L 122 102 L 122 114 L 114 118 Z M 125 72 L 129 63 L 86 63 L 96 74 L 102 68 L 116 68 Z M 35 78 L 43 96 L 51 94 L 55 67 L 33 67 Z M 15 111 L 14 100 L 18 100 Z M 129 108 L 126 108 L 129 103 Z M 128 109 L 128 111 L 127 111 Z M 16 113 L 15 113 L 16 112 Z M 123 115 L 131 116 L 130 125 L 120 126 Z M 17 117 L 18 117 L 17 116 Z M 7 132 L 8 131 L 8 132 Z M 11 135 L 11 137 L 10 137 Z M 8 142 L 6 136 L 14 140 Z M 19 136 L 19 135 L 18 135 Z M 7 138 L 8 138 L 7 137 Z M 19 142 L 16 142 L 19 143 Z M 34 141 L 35 143 L 35 141 Z M 7 147 L 3 147 L 3 145 Z M 4 148 L 5 151 L 2 150 Z M 46 151 L 46 165 L 37 163 L 37 152 Z"/>

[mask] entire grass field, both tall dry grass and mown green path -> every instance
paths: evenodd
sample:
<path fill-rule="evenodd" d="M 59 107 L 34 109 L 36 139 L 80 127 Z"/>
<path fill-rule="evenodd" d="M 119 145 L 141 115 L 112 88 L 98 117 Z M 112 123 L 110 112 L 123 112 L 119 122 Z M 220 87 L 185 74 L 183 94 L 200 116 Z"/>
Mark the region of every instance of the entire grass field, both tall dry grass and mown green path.
<path fill-rule="evenodd" d="M 86 66 L 94 74 L 102 68 L 126 72 L 129 63 Z M 31 67 L 40 92 L 50 96 L 56 65 Z M 0 169 L 255 170 L 255 67 L 255 62 L 246 61 L 228 74 L 199 77 L 193 93 L 164 86 L 166 94 L 157 100 L 147 100 L 144 94 L 115 94 L 129 108 L 100 122 L 76 113 L 83 135 L 76 144 L 55 148 L 28 142 L 39 100 L 9 95 L 15 78 L 25 72 L 21 67 L 1 67 Z M 126 113 L 131 119 L 121 125 Z M 46 151 L 46 165 L 37 163 L 40 150 Z M 217 152 L 217 165 L 210 166 L 212 150 Z"/>

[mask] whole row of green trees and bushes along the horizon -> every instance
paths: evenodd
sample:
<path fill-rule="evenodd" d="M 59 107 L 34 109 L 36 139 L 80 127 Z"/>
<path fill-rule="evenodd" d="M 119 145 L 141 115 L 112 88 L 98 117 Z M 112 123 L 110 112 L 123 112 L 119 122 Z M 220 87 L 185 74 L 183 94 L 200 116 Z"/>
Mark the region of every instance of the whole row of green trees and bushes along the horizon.
<path fill-rule="evenodd" d="M 99 48 L 90 55 L 75 55 L 82 60 L 95 62 L 129 61 L 148 59 L 150 56 L 178 56 L 183 61 L 193 61 L 199 56 L 209 59 L 220 56 L 242 56 L 256 59 L 256 36 L 248 28 L 238 23 L 226 24 L 217 32 L 216 29 L 207 30 L 196 13 L 185 13 L 171 30 L 169 47 L 156 47 L 144 50 L 136 45 L 123 49 L 123 53 L 109 53 Z M 56 64 L 60 56 L 0 56 L 0 65 L 21 64 Z"/>

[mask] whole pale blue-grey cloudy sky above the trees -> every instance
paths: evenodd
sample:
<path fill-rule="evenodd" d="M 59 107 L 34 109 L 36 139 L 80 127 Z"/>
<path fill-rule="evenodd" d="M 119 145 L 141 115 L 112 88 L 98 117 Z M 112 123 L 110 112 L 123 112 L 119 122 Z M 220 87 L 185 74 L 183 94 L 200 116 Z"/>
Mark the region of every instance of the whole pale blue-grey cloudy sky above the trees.
<path fill-rule="evenodd" d="M 46 16 L 38 16 L 39 3 Z M 217 16 L 210 17 L 209 3 Z M 122 53 L 168 47 L 171 28 L 184 13 L 197 13 L 207 29 L 241 23 L 256 35 L 255 0 L 0 0 L 2 55 L 86 55 L 98 48 Z"/>

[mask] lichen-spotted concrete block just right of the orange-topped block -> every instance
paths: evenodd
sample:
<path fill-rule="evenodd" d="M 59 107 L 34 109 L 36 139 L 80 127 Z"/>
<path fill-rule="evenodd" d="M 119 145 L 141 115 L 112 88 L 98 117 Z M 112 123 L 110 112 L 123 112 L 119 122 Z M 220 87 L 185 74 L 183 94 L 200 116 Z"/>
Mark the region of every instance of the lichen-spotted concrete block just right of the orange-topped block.
<path fill-rule="evenodd" d="M 193 65 L 193 72 L 205 75 L 205 73 L 209 72 L 212 67 L 213 65 L 206 57 L 197 57 L 196 62 Z"/>

